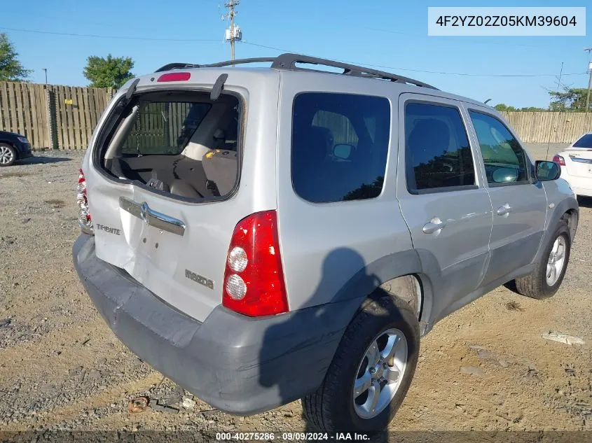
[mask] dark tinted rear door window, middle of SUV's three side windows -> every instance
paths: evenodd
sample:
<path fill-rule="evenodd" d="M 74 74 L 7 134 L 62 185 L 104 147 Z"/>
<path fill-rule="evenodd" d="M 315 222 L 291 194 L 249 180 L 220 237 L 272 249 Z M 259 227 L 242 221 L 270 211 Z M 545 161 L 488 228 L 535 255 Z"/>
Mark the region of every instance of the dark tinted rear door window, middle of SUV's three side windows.
<path fill-rule="evenodd" d="M 473 155 L 457 108 L 406 104 L 405 140 L 409 192 L 475 185 Z"/>

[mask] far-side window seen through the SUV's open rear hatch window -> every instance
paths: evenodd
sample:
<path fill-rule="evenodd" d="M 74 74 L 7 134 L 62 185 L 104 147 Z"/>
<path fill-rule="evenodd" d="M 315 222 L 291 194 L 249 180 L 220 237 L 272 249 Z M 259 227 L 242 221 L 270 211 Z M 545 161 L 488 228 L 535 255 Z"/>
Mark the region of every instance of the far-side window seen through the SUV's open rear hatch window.
<path fill-rule="evenodd" d="M 211 107 L 208 103 L 151 101 L 139 111 L 122 154 L 179 155 Z"/>

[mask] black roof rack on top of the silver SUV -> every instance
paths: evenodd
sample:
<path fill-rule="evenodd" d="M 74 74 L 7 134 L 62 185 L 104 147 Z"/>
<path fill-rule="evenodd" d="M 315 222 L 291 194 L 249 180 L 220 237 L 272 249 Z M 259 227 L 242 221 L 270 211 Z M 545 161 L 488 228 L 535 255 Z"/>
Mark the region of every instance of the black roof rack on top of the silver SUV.
<path fill-rule="evenodd" d="M 364 78 L 379 78 L 381 80 L 390 80 L 396 83 L 409 83 L 411 85 L 427 87 L 429 89 L 437 90 L 436 87 L 423 83 L 413 78 L 399 76 L 398 74 L 386 71 L 378 71 L 377 69 L 365 68 L 364 66 L 357 66 L 355 64 L 348 64 L 343 62 L 335 62 L 329 59 L 322 59 L 317 57 L 310 57 L 308 55 L 285 53 L 277 57 L 259 57 L 249 59 L 227 60 L 226 62 L 218 62 L 211 64 L 191 64 L 191 63 L 170 63 L 158 69 L 156 72 L 170 71 L 172 69 L 188 69 L 188 68 L 221 68 L 223 66 L 234 66 L 235 64 L 248 63 L 266 63 L 270 62 L 273 69 L 284 69 L 288 71 L 320 71 L 317 69 L 308 69 L 297 64 L 317 64 L 320 66 L 331 66 L 333 68 L 343 69 L 341 75 L 356 76 Z"/>

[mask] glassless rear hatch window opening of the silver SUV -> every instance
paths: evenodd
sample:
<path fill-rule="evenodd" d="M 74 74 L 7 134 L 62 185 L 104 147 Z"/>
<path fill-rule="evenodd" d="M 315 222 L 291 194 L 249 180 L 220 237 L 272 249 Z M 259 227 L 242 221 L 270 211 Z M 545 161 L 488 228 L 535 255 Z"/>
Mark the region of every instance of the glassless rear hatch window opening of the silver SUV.
<path fill-rule="evenodd" d="M 113 122 L 101 162 L 120 179 L 186 199 L 230 195 L 238 183 L 240 102 L 208 92 L 132 97 Z"/>

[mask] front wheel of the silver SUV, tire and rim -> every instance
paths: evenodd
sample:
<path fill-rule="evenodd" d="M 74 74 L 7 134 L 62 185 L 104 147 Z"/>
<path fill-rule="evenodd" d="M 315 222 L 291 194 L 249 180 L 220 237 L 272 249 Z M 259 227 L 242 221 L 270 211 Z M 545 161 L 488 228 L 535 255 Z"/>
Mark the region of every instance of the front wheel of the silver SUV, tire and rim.
<path fill-rule="evenodd" d="M 539 300 L 555 295 L 565 276 L 571 248 L 570 228 L 561 220 L 535 270 L 516 279 L 518 293 Z"/>

